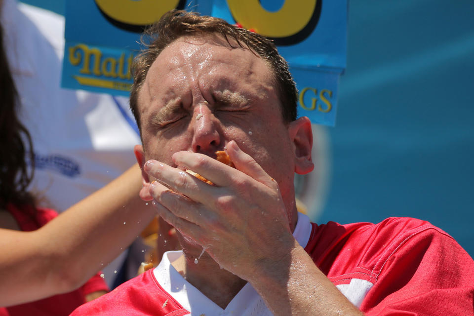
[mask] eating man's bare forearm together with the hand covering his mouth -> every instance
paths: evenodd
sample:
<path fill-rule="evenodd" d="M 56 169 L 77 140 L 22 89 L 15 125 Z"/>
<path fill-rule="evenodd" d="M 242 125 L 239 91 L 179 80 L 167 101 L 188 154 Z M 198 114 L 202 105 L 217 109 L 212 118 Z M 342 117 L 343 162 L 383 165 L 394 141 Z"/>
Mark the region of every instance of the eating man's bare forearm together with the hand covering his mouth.
<path fill-rule="evenodd" d="M 150 185 L 158 213 L 220 266 L 250 282 L 274 315 L 362 315 L 292 236 L 276 181 L 235 142 L 227 148 L 237 170 L 199 154 L 173 156 L 176 165 L 216 186 L 163 163 L 147 163 L 147 173 L 173 189 Z"/>

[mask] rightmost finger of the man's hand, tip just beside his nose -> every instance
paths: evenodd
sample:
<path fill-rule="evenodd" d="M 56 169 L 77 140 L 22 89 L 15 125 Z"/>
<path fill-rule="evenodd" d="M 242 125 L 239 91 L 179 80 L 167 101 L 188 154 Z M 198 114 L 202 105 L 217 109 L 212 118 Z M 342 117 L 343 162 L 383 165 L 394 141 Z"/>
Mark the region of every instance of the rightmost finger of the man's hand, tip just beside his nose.
<path fill-rule="evenodd" d="M 235 141 L 227 144 L 226 153 L 234 162 L 236 168 L 267 187 L 277 188 L 276 181 L 253 159 L 237 146 Z"/>

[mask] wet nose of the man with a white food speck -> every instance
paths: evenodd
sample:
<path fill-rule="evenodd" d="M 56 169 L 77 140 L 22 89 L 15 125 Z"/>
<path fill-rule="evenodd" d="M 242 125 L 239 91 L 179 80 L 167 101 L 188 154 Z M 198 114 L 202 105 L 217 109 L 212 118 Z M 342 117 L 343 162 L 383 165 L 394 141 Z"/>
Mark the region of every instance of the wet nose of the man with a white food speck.
<path fill-rule="evenodd" d="M 219 121 L 205 105 L 197 107 L 194 120 L 193 151 L 212 155 L 221 143 Z"/>

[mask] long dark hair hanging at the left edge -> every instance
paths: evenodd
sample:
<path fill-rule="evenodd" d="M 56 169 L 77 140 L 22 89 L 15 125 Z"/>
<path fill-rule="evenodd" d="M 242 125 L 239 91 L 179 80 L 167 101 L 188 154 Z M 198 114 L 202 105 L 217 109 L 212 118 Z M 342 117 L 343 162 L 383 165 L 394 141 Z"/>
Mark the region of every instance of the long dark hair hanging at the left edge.
<path fill-rule="evenodd" d="M 8 67 L 0 25 L 0 207 L 8 202 L 34 206 L 26 188 L 33 179 L 34 154 L 31 136 L 17 116 L 18 93 Z M 25 146 L 26 144 L 26 146 Z M 31 160 L 28 168 L 26 156 Z"/>

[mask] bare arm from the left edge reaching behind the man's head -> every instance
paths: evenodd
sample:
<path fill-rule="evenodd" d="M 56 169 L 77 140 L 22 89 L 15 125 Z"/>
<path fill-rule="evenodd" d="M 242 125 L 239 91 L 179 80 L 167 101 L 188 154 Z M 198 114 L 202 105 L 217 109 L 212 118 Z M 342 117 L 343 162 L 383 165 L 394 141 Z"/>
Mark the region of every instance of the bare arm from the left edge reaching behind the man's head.
<path fill-rule="evenodd" d="M 132 166 L 34 232 L 0 229 L 0 306 L 72 291 L 123 251 L 156 215 Z"/>

